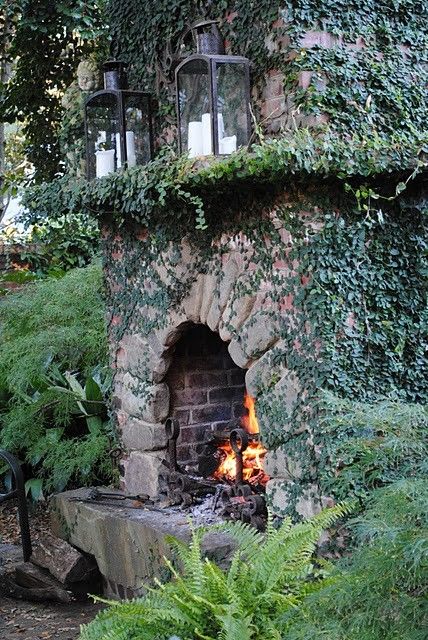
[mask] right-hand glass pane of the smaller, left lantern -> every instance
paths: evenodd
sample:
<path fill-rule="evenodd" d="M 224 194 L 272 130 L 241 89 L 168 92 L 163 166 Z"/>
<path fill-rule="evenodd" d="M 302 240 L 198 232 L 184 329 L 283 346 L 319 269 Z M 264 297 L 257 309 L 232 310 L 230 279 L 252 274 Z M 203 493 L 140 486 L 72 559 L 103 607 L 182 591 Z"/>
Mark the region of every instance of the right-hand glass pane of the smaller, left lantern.
<path fill-rule="evenodd" d="M 151 158 L 150 113 L 148 100 L 132 93 L 123 94 L 128 167 L 146 164 Z M 122 166 L 121 155 L 118 167 Z"/>

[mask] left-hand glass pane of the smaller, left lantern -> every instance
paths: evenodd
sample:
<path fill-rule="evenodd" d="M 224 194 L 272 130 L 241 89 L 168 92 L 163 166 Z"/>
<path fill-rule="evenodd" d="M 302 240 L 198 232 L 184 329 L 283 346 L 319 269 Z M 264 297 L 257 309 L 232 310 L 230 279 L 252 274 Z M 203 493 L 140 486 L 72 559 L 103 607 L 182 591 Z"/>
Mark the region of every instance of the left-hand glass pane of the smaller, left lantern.
<path fill-rule="evenodd" d="M 117 168 L 120 123 L 117 97 L 94 96 L 86 105 L 88 177 L 102 177 Z"/>

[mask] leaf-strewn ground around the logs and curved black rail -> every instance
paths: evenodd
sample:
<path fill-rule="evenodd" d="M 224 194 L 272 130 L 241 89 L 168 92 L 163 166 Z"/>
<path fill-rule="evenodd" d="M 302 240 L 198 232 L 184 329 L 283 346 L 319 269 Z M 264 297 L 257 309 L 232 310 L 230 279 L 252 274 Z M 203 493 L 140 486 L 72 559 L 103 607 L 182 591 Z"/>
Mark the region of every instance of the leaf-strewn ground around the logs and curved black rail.
<path fill-rule="evenodd" d="M 31 509 L 30 529 L 33 541 L 49 530 L 46 503 Z M 20 544 L 16 507 L 10 502 L 0 505 L 0 543 Z M 90 622 L 99 609 L 100 605 L 91 600 L 70 604 L 38 604 L 5 598 L 0 594 L 0 639 L 76 640 L 80 625 Z"/>

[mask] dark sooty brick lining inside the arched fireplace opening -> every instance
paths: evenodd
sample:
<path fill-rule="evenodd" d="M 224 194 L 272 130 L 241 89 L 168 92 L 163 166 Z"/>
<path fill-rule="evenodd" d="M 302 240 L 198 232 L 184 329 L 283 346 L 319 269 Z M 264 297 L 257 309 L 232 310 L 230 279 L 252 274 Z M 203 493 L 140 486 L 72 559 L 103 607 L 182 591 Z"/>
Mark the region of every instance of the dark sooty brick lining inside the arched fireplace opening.
<path fill-rule="evenodd" d="M 227 343 L 205 325 L 194 325 L 179 340 L 165 378 L 170 415 L 180 422 L 178 458 L 197 461 L 196 444 L 206 431 L 228 431 L 245 413 L 245 369 L 237 367 Z"/>

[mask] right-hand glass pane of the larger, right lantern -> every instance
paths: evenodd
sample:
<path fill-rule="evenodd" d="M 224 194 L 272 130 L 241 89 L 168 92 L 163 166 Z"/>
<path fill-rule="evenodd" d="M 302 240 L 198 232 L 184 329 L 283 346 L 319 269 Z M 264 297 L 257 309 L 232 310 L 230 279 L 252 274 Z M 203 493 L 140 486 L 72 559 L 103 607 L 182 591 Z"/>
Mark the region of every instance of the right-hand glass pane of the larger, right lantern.
<path fill-rule="evenodd" d="M 216 61 L 218 151 L 228 155 L 248 144 L 247 68 Z"/>

